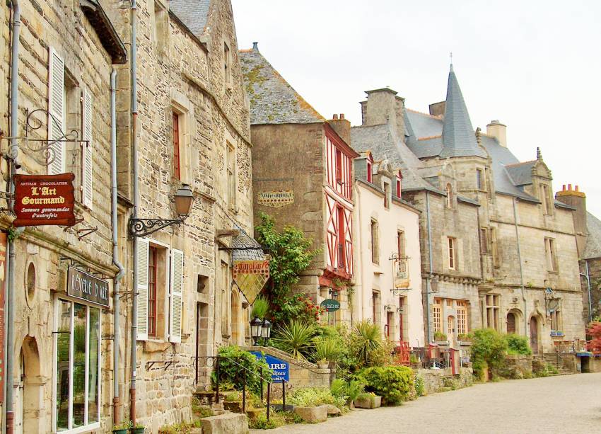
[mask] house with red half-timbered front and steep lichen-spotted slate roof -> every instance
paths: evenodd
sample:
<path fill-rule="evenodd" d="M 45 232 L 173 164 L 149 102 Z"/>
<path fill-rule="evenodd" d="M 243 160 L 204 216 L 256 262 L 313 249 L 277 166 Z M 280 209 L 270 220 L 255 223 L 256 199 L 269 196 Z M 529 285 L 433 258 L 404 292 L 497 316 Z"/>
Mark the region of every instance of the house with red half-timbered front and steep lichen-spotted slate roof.
<path fill-rule="evenodd" d="M 329 321 L 350 321 L 346 283 L 353 264 L 353 159 L 350 122 L 327 121 L 272 67 L 257 48 L 240 52 L 250 98 L 255 218 L 293 224 L 320 249 L 297 290 L 315 302 L 338 297 Z"/>

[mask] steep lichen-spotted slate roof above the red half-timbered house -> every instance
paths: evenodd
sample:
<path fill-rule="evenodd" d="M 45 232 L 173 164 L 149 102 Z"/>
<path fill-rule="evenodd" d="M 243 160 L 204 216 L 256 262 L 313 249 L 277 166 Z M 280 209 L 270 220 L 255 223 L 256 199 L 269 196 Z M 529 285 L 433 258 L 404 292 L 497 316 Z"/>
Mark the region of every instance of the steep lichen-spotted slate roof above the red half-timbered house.
<path fill-rule="evenodd" d="M 267 62 L 256 45 L 252 50 L 240 50 L 240 63 L 252 125 L 326 122 Z"/>

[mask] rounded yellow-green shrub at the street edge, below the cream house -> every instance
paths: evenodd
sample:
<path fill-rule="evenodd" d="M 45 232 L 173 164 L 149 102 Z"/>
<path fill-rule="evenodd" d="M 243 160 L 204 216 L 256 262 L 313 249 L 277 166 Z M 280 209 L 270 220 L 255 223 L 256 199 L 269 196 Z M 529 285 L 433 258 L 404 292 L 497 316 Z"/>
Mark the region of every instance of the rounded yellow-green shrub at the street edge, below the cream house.
<path fill-rule="evenodd" d="M 373 366 L 361 372 L 366 391 L 382 396 L 387 405 L 407 401 L 414 392 L 414 372 L 407 366 Z"/>

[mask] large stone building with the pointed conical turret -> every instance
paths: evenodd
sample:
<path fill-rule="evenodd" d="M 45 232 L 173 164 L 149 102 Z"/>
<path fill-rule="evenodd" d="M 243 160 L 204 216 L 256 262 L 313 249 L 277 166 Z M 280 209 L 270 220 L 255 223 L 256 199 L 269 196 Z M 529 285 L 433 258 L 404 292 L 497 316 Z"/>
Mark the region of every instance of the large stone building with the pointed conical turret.
<path fill-rule="evenodd" d="M 361 107 L 353 146 L 385 153 L 402 170 L 404 198 L 422 211 L 428 340 L 444 333 L 453 345 L 492 327 L 542 352 L 582 338 L 573 207 L 554 200 L 541 152 L 520 163 L 498 121 L 474 132 L 453 67 L 445 101 L 429 114 L 388 88 L 368 92 Z"/>

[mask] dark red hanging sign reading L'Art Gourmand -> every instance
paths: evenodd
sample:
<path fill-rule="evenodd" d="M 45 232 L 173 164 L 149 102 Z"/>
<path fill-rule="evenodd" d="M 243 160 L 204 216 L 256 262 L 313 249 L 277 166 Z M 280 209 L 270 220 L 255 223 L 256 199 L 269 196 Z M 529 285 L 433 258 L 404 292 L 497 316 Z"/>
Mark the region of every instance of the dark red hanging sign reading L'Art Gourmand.
<path fill-rule="evenodd" d="M 73 173 L 15 175 L 15 214 L 19 226 L 75 224 Z"/>

